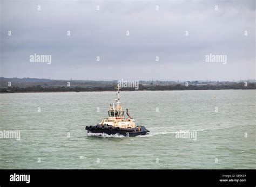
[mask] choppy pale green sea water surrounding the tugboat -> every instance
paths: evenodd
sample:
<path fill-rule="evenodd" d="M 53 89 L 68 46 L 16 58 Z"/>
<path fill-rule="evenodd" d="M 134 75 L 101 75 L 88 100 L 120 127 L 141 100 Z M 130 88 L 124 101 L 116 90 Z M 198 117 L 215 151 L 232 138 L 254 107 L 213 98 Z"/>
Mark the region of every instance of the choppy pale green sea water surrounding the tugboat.
<path fill-rule="evenodd" d="M 1 94 L 0 169 L 255 169 L 256 91 L 121 92 L 149 135 L 90 136 L 116 92 Z M 99 108 L 97 108 L 99 107 Z M 177 132 L 196 133 L 177 138 Z"/>

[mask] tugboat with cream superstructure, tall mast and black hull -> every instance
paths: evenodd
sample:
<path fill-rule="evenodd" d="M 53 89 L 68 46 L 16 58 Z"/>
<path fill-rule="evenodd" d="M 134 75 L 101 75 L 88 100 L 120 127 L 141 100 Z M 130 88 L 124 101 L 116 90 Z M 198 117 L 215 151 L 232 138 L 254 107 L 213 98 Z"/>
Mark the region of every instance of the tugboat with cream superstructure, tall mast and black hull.
<path fill-rule="evenodd" d="M 144 126 L 136 126 L 134 119 L 130 116 L 128 109 L 126 109 L 127 117 L 125 117 L 124 110 L 120 103 L 120 84 L 117 85 L 117 99 L 115 103 L 110 104 L 109 117 L 102 119 L 99 124 L 95 126 L 86 126 L 87 133 L 92 134 L 107 134 L 107 135 L 123 135 L 138 136 L 148 134 L 150 131 Z"/>

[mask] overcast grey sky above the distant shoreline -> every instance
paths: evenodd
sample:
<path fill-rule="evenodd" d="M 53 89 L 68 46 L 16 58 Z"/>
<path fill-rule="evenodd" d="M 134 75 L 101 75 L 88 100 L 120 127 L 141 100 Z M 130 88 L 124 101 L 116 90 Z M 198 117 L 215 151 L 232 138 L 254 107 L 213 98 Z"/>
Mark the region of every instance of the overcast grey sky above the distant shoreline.
<path fill-rule="evenodd" d="M 0 1 L 3 77 L 255 79 L 254 0 Z M 35 53 L 51 64 L 30 62 Z"/>

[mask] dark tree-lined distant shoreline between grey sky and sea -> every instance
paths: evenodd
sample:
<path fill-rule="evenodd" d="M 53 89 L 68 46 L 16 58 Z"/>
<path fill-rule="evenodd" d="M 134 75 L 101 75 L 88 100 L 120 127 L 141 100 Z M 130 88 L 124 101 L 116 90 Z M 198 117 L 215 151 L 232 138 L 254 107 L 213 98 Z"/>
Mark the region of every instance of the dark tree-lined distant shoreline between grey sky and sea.
<path fill-rule="evenodd" d="M 123 80 L 122 80 L 123 81 Z M 0 77 L 0 93 L 38 92 L 100 92 L 115 91 L 118 81 L 58 81 L 38 78 Z M 127 82 L 127 81 L 126 81 Z M 167 90 L 254 90 L 255 80 L 230 81 L 131 81 L 122 82 L 122 91 L 167 91 Z M 124 84 L 123 84 L 124 83 Z"/>

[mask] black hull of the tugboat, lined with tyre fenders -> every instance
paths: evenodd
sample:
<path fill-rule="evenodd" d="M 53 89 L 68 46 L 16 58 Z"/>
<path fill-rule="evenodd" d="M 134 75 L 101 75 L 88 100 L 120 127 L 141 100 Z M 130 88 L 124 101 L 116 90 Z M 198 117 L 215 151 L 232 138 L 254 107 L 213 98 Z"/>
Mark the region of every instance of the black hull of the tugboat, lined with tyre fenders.
<path fill-rule="evenodd" d="M 138 127 L 135 127 L 135 128 L 107 128 L 105 127 L 105 129 L 102 129 L 102 128 L 97 128 L 95 129 L 96 126 L 86 126 L 86 130 L 87 130 L 87 133 L 93 133 L 93 134 L 107 134 L 107 135 L 115 135 L 115 134 L 118 134 L 118 135 L 123 135 L 123 136 L 126 136 L 126 137 L 133 137 L 133 136 L 138 136 L 138 135 L 145 135 L 147 133 L 149 133 L 150 131 L 147 130 L 144 126 L 141 126 L 140 127 L 140 131 L 138 131 Z M 91 129 L 89 129 L 91 128 Z"/>

